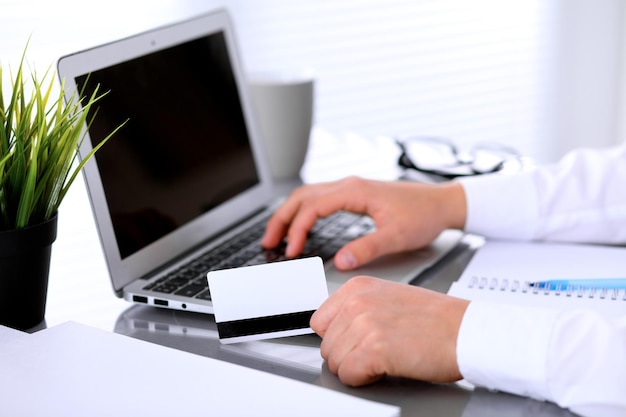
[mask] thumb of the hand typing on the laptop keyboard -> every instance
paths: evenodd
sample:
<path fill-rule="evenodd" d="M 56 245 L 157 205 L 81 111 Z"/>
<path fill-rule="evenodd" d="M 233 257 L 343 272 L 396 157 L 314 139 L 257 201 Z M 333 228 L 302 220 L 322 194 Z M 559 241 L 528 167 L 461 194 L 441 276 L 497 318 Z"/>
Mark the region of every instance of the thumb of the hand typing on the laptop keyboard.
<path fill-rule="evenodd" d="M 389 244 L 393 239 L 383 230 L 377 230 L 347 243 L 335 255 L 335 266 L 340 270 L 351 270 L 374 259 L 393 252 Z"/>

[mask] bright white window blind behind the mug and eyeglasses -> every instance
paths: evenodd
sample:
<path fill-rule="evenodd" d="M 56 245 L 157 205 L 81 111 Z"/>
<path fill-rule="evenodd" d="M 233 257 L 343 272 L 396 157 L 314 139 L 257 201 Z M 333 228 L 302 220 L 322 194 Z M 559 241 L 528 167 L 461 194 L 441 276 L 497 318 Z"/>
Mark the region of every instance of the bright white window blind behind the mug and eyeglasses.
<path fill-rule="evenodd" d="M 312 67 L 317 125 L 541 152 L 550 2 L 240 2 L 248 68 Z"/>

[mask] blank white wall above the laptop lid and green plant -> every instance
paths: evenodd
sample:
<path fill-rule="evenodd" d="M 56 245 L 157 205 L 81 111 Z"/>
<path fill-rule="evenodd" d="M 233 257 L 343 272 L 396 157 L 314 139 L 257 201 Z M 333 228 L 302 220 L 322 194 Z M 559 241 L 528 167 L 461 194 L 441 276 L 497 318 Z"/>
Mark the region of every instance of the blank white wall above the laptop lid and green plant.
<path fill-rule="evenodd" d="M 190 16 L 177 0 L 0 0 L 0 59 L 15 63 L 30 37 L 37 66 L 64 54 Z"/>

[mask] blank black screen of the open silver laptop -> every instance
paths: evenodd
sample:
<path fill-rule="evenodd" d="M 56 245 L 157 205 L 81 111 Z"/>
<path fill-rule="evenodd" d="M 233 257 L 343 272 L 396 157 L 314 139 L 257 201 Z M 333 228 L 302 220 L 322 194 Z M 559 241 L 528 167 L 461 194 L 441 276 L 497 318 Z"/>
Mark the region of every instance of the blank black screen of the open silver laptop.
<path fill-rule="evenodd" d="M 76 78 L 106 91 L 89 134 L 120 257 L 259 182 L 224 36 L 216 33 Z"/>

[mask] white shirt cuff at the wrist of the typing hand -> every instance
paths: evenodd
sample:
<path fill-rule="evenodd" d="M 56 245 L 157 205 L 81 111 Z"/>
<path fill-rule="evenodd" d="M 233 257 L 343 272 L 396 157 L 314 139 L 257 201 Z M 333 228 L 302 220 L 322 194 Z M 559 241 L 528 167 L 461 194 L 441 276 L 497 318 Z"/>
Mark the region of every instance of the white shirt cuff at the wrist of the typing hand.
<path fill-rule="evenodd" d="M 465 231 L 501 239 L 534 237 L 539 212 L 532 172 L 480 175 L 458 182 L 467 200 Z"/>

